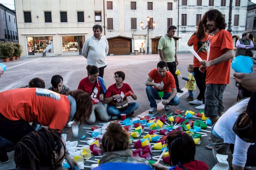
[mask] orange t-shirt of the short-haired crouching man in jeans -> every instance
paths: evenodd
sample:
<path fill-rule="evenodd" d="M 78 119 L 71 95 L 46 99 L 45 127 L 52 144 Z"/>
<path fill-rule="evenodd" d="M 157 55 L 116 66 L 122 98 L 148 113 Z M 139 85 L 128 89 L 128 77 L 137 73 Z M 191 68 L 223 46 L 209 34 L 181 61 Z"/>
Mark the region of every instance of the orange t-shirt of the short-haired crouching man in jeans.
<path fill-rule="evenodd" d="M 161 77 L 158 74 L 157 68 L 154 68 L 148 73 L 148 76 L 152 78 L 155 83 L 162 85 L 163 89 L 161 91 L 173 92 L 172 89 L 176 88 L 174 77 L 169 71 L 166 71 L 166 75 L 164 77 Z M 154 88 L 157 89 L 155 86 Z"/>

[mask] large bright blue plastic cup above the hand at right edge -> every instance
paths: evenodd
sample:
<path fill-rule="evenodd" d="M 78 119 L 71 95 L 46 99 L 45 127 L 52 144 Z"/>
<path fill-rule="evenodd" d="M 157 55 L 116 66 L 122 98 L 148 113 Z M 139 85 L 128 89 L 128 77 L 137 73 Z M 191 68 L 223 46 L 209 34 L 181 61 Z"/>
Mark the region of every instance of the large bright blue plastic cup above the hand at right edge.
<path fill-rule="evenodd" d="M 238 73 L 251 73 L 253 59 L 248 56 L 237 56 L 232 60 L 231 67 Z"/>

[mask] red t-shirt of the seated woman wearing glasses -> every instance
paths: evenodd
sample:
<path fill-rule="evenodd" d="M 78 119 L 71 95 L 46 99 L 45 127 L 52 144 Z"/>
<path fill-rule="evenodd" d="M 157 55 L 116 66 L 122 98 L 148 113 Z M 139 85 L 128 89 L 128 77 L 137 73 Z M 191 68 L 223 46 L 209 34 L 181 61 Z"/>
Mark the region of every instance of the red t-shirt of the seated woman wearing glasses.
<path fill-rule="evenodd" d="M 134 93 L 132 91 L 132 88 L 130 87 L 129 84 L 127 83 L 123 83 L 123 86 L 119 89 L 116 87 L 116 83 L 112 84 L 111 86 L 109 86 L 106 94 L 105 94 L 105 97 L 106 98 L 109 98 L 113 95 L 116 95 L 116 94 L 120 94 L 120 95 L 124 95 L 124 93 L 128 92 L 128 91 L 131 91 L 132 93 Z M 126 100 L 126 97 L 124 97 L 123 99 L 121 99 L 120 101 L 119 100 L 112 100 L 114 103 L 117 103 L 117 102 L 122 102 L 122 101 L 125 101 Z M 114 104 L 112 102 L 109 102 L 109 105 L 110 106 L 113 106 Z"/>

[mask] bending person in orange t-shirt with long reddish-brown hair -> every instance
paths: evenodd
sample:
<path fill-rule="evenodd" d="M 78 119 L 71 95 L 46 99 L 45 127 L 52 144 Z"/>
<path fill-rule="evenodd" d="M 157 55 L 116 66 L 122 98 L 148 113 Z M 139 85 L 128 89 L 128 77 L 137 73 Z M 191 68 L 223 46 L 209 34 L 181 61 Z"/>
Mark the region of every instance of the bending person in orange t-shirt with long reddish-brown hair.
<path fill-rule="evenodd" d="M 91 97 L 82 90 L 66 96 L 47 89 L 20 88 L 1 92 L 0 100 L 0 136 L 14 144 L 35 131 L 29 122 L 60 133 L 70 121 L 81 125 L 92 112 Z M 7 157 L 4 149 L 0 148 L 0 156 Z"/>

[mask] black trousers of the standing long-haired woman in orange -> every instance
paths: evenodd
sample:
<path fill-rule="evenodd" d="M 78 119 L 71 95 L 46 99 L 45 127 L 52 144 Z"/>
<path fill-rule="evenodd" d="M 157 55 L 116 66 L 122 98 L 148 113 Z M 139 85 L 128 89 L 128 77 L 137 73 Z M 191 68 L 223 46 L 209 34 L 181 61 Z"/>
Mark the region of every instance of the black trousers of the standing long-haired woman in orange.
<path fill-rule="evenodd" d="M 194 75 L 196 80 L 196 85 L 199 89 L 199 94 L 197 96 L 197 100 L 202 100 L 205 103 L 205 79 L 206 79 L 206 71 L 205 73 L 201 73 L 199 71 L 199 67 L 194 67 Z"/>

